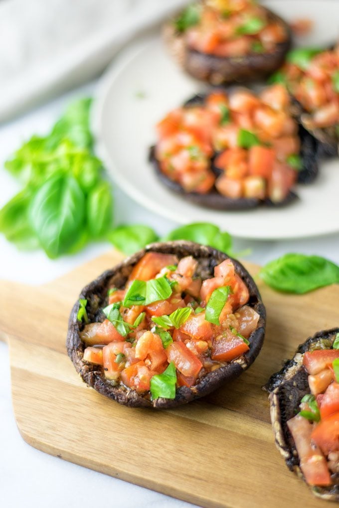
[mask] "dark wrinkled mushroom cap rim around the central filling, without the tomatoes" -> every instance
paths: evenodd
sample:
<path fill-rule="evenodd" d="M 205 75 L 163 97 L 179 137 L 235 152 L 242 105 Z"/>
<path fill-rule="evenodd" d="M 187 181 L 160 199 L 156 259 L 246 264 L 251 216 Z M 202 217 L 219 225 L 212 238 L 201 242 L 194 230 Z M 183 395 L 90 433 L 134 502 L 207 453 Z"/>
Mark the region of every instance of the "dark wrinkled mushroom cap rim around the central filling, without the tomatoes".
<path fill-rule="evenodd" d="M 163 243 L 152 243 L 140 250 L 133 256 L 125 259 L 114 268 L 105 271 L 96 280 L 90 282 L 81 291 L 79 298 L 87 300 L 86 310 L 90 322 L 103 321 L 106 317 L 100 310 L 107 304 L 107 289 L 114 285 L 118 289 L 125 287 L 127 279 L 136 263 L 146 252 L 162 252 L 175 254 L 178 259 L 185 256 L 193 256 L 198 261 L 197 273 L 202 279 L 213 276 L 214 267 L 229 257 L 220 250 L 212 247 L 199 245 L 194 242 L 174 241 Z M 70 319 L 67 335 L 67 352 L 77 372 L 84 382 L 93 387 L 102 395 L 106 395 L 120 404 L 130 407 L 153 407 L 166 408 L 178 406 L 191 400 L 203 397 L 213 390 L 219 388 L 227 380 L 233 379 L 250 367 L 258 356 L 265 335 L 266 311 L 262 303 L 258 288 L 248 271 L 236 260 L 232 259 L 236 273 L 241 277 L 250 293 L 248 305 L 259 314 L 259 321 L 256 330 L 249 337 L 250 350 L 239 358 L 226 365 L 209 372 L 198 380 L 191 388 L 180 387 L 176 389 L 175 399 L 158 398 L 150 400 L 149 392 L 146 395 L 138 395 L 135 390 L 122 385 L 114 386 L 105 378 L 104 370 L 98 365 L 83 360 L 84 344 L 80 338 L 80 332 L 84 324 L 77 319 L 79 310 L 78 301 L 75 303 Z"/>

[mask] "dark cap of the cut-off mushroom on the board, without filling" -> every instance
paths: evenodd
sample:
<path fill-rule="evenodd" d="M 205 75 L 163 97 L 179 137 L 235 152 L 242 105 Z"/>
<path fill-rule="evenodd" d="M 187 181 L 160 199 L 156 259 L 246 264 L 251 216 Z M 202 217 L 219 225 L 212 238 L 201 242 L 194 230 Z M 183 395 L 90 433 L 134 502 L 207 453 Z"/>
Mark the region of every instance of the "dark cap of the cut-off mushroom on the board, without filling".
<path fill-rule="evenodd" d="M 305 482 L 300 469 L 298 453 L 288 429 L 287 421 L 295 416 L 302 397 L 310 393 L 308 374 L 302 365 L 303 353 L 319 349 L 330 349 L 339 328 L 316 333 L 299 345 L 292 360 L 273 374 L 263 389 L 269 392 L 270 414 L 276 447 L 282 454 L 287 467 Z M 339 501 L 339 474 L 332 474 L 334 484 L 330 487 L 310 486 L 312 492 L 322 499 Z"/>

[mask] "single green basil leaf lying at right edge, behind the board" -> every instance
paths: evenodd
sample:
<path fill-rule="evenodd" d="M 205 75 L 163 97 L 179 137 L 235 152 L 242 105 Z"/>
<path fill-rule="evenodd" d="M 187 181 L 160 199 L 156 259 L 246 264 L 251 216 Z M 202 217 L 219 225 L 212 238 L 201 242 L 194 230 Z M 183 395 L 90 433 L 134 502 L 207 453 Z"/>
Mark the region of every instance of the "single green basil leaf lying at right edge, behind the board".
<path fill-rule="evenodd" d="M 339 267 L 320 256 L 289 253 L 267 263 L 259 276 L 275 290 L 304 294 L 339 283 Z"/>

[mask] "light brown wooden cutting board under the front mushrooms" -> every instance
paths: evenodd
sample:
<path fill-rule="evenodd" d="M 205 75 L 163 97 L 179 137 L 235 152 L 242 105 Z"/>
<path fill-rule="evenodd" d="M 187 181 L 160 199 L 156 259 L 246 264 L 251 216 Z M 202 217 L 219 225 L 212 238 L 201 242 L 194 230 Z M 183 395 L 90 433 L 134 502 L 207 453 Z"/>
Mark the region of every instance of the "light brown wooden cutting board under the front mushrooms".
<path fill-rule="evenodd" d="M 300 342 L 338 326 L 339 286 L 287 296 L 259 280 L 267 334 L 254 365 L 186 406 L 132 409 L 86 387 L 65 347 L 81 288 L 120 259 L 109 252 L 40 287 L 0 282 L 0 336 L 9 342 L 14 412 L 25 441 L 208 508 L 323 506 L 275 449 L 261 386 Z M 259 267 L 245 265 L 255 276 Z"/>

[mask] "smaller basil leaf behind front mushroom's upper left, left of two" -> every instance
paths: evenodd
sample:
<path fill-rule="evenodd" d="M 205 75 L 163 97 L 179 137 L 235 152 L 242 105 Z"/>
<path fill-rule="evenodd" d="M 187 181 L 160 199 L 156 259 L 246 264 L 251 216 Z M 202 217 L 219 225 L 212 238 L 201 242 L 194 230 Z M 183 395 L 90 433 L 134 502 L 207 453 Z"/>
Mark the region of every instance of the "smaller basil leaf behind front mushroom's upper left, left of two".
<path fill-rule="evenodd" d="M 158 235 L 148 226 L 119 226 L 107 234 L 108 240 L 124 254 L 133 254 L 148 243 L 156 242 Z"/>

